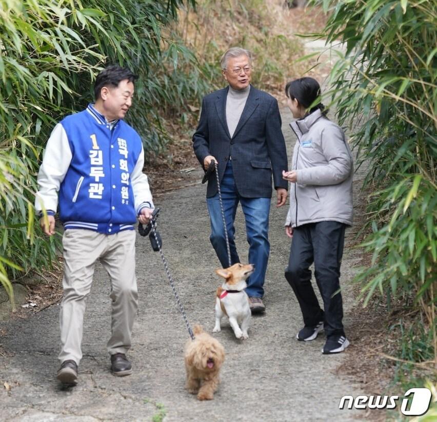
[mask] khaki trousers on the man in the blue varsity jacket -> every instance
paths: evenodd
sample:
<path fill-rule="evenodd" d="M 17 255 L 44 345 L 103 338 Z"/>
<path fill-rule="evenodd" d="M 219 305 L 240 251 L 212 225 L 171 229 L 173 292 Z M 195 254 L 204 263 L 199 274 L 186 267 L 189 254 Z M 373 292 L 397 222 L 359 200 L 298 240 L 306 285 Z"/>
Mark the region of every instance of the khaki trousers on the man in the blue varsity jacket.
<path fill-rule="evenodd" d="M 64 248 L 64 297 L 59 323 L 59 361 L 82 359 L 82 333 L 85 299 L 100 259 L 111 280 L 112 321 L 108 353 L 126 353 L 131 346 L 133 321 L 138 308 L 135 278 L 135 231 L 106 235 L 92 230 L 68 229 L 62 238 Z"/>

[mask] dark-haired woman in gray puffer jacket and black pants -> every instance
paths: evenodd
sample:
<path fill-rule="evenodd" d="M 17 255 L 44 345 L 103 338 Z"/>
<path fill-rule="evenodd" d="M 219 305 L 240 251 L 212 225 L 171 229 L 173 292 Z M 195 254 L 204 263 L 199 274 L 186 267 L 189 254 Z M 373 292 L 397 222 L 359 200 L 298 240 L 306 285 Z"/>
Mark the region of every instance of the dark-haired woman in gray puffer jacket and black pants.
<path fill-rule="evenodd" d="M 289 82 L 285 92 L 297 118 L 290 124 L 297 136 L 292 169 L 283 172 L 283 178 L 291 182 L 285 226 L 292 243 L 285 277 L 299 301 L 305 325 L 296 337 L 309 341 L 325 330 L 322 352 L 339 353 L 349 345 L 338 291 L 345 228 L 352 225 L 352 154 L 342 129 L 323 112 L 315 79 Z M 313 262 L 324 310 L 311 285 Z"/>

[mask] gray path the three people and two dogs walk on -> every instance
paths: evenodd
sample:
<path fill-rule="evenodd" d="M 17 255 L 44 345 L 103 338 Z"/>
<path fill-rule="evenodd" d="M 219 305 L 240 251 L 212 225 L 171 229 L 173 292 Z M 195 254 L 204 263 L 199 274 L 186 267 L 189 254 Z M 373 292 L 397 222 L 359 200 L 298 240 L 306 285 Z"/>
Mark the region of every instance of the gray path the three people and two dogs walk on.
<path fill-rule="evenodd" d="M 290 114 L 283 110 L 283 131 L 291 157 L 294 137 Z M 201 176 L 201 172 L 198 172 Z M 360 182 L 355 182 L 356 189 Z M 218 260 L 209 243 L 205 186 L 197 185 L 162 195 L 159 229 L 164 253 L 190 323 L 208 331 L 214 325 L 214 291 L 220 284 L 213 270 Z M 108 277 L 98 265 L 85 316 L 80 384 L 62 390 L 55 379 L 59 344 L 58 307 L 28 319 L 2 323 L 0 343 L 0 414 L 9 421 L 356 421 L 359 411 L 339 410 L 343 395 L 362 393 L 336 374 L 344 354 L 325 356 L 323 337 L 309 344 L 295 339 L 302 326 L 299 306 L 284 278 L 289 241 L 283 222 L 287 208 L 272 207 L 271 255 L 266 279 L 264 316 L 252 319 L 250 338 L 237 341 L 229 325 L 215 334 L 227 356 L 222 384 L 209 402 L 199 402 L 184 390 L 184 321 L 165 276 L 161 258 L 148 239 L 137 237 L 137 278 L 140 309 L 134 326 L 130 358 L 134 372 L 116 378 L 109 372 L 106 341 L 110 330 Z M 241 210 L 237 213 L 236 243 L 243 259 L 247 242 Z M 348 280 L 358 261 L 348 247 L 342 267 L 345 328 L 353 307 Z M 346 352 L 347 353 L 347 352 Z M 165 416 L 164 416 L 165 415 Z"/>

